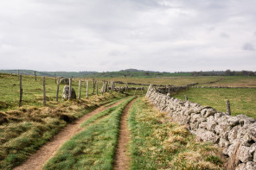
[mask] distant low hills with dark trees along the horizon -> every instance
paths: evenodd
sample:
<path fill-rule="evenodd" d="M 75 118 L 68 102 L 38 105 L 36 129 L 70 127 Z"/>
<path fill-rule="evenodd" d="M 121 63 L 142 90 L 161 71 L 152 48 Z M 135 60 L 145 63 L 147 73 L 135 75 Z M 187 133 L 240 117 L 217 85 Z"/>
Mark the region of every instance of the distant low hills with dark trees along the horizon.
<path fill-rule="evenodd" d="M 5 73 L 17 73 L 17 70 L 0 70 Z M 34 70 L 20 70 L 20 74 L 34 75 Z M 252 71 L 210 71 L 210 72 L 154 72 L 138 69 L 126 69 L 118 72 L 37 72 L 37 76 L 48 77 L 74 77 L 74 78 L 116 78 L 116 77 L 140 77 L 140 78 L 157 78 L 157 77 L 181 77 L 181 76 L 256 76 Z"/>

